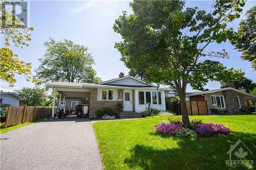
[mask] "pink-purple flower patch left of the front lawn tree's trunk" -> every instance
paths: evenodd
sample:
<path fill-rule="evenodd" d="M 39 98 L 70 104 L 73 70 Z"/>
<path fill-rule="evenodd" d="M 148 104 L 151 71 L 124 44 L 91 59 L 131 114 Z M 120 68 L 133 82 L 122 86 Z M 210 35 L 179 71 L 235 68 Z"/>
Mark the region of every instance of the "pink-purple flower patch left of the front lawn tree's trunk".
<path fill-rule="evenodd" d="M 157 132 L 175 135 L 177 130 L 180 130 L 182 125 L 161 123 L 155 127 Z"/>

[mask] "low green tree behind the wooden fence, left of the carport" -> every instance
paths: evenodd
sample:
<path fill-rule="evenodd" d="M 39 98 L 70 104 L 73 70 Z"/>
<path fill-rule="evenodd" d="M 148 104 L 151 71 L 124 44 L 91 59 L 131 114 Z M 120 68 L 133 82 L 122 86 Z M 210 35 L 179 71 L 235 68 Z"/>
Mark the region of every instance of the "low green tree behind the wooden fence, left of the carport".
<path fill-rule="evenodd" d="M 51 106 L 52 99 L 44 88 L 23 87 L 15 92 L 25 99 L 20 100 L 20 106 Z"/>

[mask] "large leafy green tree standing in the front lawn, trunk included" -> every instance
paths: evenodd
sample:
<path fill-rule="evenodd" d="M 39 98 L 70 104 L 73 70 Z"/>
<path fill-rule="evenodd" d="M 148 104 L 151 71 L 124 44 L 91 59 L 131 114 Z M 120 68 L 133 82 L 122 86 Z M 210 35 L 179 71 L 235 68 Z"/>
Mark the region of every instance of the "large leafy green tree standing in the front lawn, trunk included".
<path fill-rule="evenodd" d="M 216 1 L 211 12 L 184 5 L 184 1 L 134 1 L 130 4 L 133 13 L 124 11 L 113 29 L 122 36 L 115 47 L 128 68 L 143 72 L 147 82 L 169 85 L 178 91 L 186 125 L 187 84 L 202 90 L 209 80 L 227 82 L 243 75 L 209 60 L 227 57 L 225 50 L 209 52 L 206 47 L 231 37 L 233 29 L 227 24 L 240 16 L 244 2 Z"/>

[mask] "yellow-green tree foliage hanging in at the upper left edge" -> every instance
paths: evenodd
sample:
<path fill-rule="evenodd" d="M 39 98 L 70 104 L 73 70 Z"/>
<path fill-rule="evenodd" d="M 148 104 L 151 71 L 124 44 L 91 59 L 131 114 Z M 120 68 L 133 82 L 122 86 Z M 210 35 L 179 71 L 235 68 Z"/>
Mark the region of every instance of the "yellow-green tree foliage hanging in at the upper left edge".
<path fill-rule="evenodd" d="M 7 81 L 12 87 L 16 83 L 15 75 L 24 75 L 27 81 L 36 82 L 37 80 L 31 76 L 31 63 L 20 61 L 18 55 L 14 54 L 10 48 L 12 45 L 20 48 L 28 46 L 27 41 L 31 40 L 29 31 L 32 31 L 33 28 L 26 28 L 22 22 L 24 18 L 17 18 L 16 11 L 5 6 L 9 2 L 3 1 L 0 5 L 0 34 L 3 34 L 1 39 L 4 37 L 4 47 L 0 48 L 0 79 Z M 19 5 L 22 1 L 11 3 Z M 15 27 L 12 22 L 13 16 L 15 17 Z M 20 29 L 24 30 L 23 33 L 17 31 Z"/>

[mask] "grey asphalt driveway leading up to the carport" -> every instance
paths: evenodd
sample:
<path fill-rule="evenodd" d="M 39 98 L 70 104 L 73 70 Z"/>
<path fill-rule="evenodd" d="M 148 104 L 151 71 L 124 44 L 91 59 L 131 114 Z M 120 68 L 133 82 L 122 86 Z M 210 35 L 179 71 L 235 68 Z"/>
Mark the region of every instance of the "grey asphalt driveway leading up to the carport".
<path fill-rule="evenodd" d="M 1 134 L 0 169 L 103 169 L 92 123 L 66 117 Z"/>

